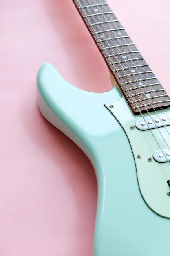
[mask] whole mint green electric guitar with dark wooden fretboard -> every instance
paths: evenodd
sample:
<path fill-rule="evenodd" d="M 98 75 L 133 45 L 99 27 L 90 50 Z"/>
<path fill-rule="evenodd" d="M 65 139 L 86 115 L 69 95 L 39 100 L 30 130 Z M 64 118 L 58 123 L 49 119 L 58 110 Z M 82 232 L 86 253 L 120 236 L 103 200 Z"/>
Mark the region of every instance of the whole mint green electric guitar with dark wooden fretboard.
<path fill-rule="evenodd" d="M 170 97 L 105 0 L 73 0 L 113 88 L 75 88 L 49 63 L 42 115 L 88 156 L 97 176 L 94 256 L 166 256 L 170 235 Z"/>

